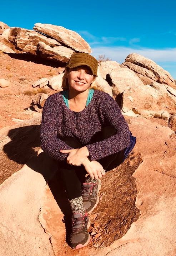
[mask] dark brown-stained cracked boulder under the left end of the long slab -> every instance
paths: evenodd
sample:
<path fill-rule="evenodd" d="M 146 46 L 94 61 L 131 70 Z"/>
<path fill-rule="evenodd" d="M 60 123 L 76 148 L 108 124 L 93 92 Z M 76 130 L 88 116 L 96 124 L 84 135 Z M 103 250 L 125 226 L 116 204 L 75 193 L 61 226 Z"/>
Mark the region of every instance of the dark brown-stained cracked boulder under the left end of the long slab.
<path fill-rule="evenodd" d="M 37 54 L 37 45 L 39 42 L 44 42 L 51 47 L 59 46 L 60 43 L 54 39 L 48 38 L 45 35 L 23 28 L 11 28 L 8 40 L 15 44 L 15 48 L 30 54 Z"/>

